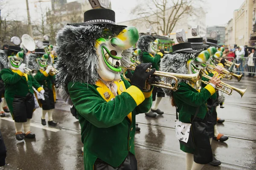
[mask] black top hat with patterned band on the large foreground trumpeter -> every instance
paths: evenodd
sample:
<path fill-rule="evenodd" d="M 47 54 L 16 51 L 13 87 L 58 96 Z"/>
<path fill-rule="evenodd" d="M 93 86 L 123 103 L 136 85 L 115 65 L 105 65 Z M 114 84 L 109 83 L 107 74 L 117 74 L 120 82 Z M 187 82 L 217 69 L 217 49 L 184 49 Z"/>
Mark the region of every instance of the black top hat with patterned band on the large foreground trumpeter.
<path fill-rule="evenodd" d="M 113 26 L 118 27 L 127 27 L 127 26 L 120 26 L 116 25 L 116 14 L 111 9 L 90 9 L 84 12 L 84 22 L 83 23 L 68 23 L 67 25 L 72 26 L 87 26 L 87 25 L 94 25 L 94 24 L 110 24 Z"/>

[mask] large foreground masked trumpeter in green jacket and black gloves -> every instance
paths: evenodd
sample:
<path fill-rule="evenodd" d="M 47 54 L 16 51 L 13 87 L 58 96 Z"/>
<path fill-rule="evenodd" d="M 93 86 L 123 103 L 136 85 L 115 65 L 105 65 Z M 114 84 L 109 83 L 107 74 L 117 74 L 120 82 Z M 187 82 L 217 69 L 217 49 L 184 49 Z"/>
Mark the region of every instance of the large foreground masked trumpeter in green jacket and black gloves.
<path fill-rule="evenodd" d="M 151 107 L 151 91 L 143 88 L 155 70 L 145 72 L 151 63 L 138 65 L 130 85 L 120 66 L 130 65 L 138 38 L 135 27 L 115 24 L 110 9 L 84 12 L 84 23 L 57 34 L 56 81 L 79 115 L 85 170 L 137 170 L 135 115 Z"/>

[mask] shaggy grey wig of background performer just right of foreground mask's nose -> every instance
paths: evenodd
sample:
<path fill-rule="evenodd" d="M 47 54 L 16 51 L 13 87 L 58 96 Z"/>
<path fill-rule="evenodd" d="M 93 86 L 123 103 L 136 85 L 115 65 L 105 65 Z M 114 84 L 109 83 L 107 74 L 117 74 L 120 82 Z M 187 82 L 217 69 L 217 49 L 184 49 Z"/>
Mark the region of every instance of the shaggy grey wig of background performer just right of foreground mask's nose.
<path fill-rule="evenodd" d="M 138 56 L 139 61 L 142 61 L 143 52 L 150 53 L 150 43 L 153 42 L 155 38 L 151 35 L 142 35 L 137 43 L 139 49 L 141 49 L 141 53 Z"/>

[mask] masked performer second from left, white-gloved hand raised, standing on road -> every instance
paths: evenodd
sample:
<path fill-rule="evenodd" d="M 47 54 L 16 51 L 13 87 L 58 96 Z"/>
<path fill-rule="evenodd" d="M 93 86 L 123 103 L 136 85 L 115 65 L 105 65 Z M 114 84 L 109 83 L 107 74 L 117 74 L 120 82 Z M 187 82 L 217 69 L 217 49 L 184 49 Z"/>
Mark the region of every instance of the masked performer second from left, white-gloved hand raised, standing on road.
<path fill-rule="evenodd" d="M 45 100 L 39 101 L 39 105 L 42 107 L 41 123 L 46 125 L 45 115 L 48 112 L 48 125 L 56 126 L 57 123 L 52 119 L 52 112 L 55 108 L 52 81 L 55 79 L 55 72 L 52 67 L 52 60 L 44 49 L 35 49 L 35 54 L 29 55 L 29 69 L 37 70 L 34 78 L 45 90 Z"/>

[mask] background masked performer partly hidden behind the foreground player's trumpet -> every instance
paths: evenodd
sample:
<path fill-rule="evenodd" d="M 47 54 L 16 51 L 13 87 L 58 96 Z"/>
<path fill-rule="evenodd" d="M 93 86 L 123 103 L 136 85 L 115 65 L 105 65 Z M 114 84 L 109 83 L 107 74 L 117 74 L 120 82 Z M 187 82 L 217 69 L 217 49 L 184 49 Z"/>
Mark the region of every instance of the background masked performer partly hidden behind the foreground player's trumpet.
<path fill-rule="evenodd" d="M 140 61 L 143 63 L 152 63 L 152 69 L 156 69 L 159 71 L 160 59 L 163 57 L 164 50 L 161 49 L 160 52 L 156 52 L 157 44 L 159 43 L 159 39 L 155 39 L 151 35 L 143 35 L 138 40 L 138 48 L 141 49 L 141 54 L 139 55 Z M 158 109 L 158 105 L 162 98 L 164 97 L 163 89 L 159 87 L 154 87 L 152 99 L 155 101 L 154 106 L 151 110 L 145 113 L 146 116 L 154 118 L 159 115 L 163 115 L 163 111 Z M 157 113 L 157 114 L 156 114 Z"/>

